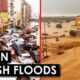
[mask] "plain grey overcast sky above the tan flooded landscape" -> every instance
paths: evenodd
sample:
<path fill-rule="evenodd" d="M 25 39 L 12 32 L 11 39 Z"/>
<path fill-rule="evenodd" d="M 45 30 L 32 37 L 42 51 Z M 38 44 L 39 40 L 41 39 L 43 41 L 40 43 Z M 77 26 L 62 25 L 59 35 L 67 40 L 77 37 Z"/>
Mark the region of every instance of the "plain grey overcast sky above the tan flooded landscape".
<path fill-rule="evenodd" d="M 80 0 L 42 0 L 42 16 L 80 15 Z"/>

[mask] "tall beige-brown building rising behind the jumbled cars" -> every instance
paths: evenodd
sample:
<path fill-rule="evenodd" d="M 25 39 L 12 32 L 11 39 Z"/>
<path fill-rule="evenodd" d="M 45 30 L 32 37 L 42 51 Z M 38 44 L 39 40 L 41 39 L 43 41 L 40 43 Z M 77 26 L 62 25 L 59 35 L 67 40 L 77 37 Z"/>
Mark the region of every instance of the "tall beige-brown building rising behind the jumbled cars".
<path fill-rule="evenodd" d="M 21 5 L 21 22 L 25 28 L 29 28 L 29 19 L 31 18 L 31 5 L 27 3 L 25 0 L 22 0 Z"/>

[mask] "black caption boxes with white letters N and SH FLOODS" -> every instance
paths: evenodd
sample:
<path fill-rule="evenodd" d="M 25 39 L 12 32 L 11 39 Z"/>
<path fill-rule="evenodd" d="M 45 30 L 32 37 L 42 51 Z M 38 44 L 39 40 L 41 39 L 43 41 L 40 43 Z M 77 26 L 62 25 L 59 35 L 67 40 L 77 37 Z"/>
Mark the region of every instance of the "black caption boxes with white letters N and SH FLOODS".
<path fill-rule="evenodd" d="M 60 76 L 59 64 L 9 64 L 10 51 L 0 51 L 0 76 Z"/>

